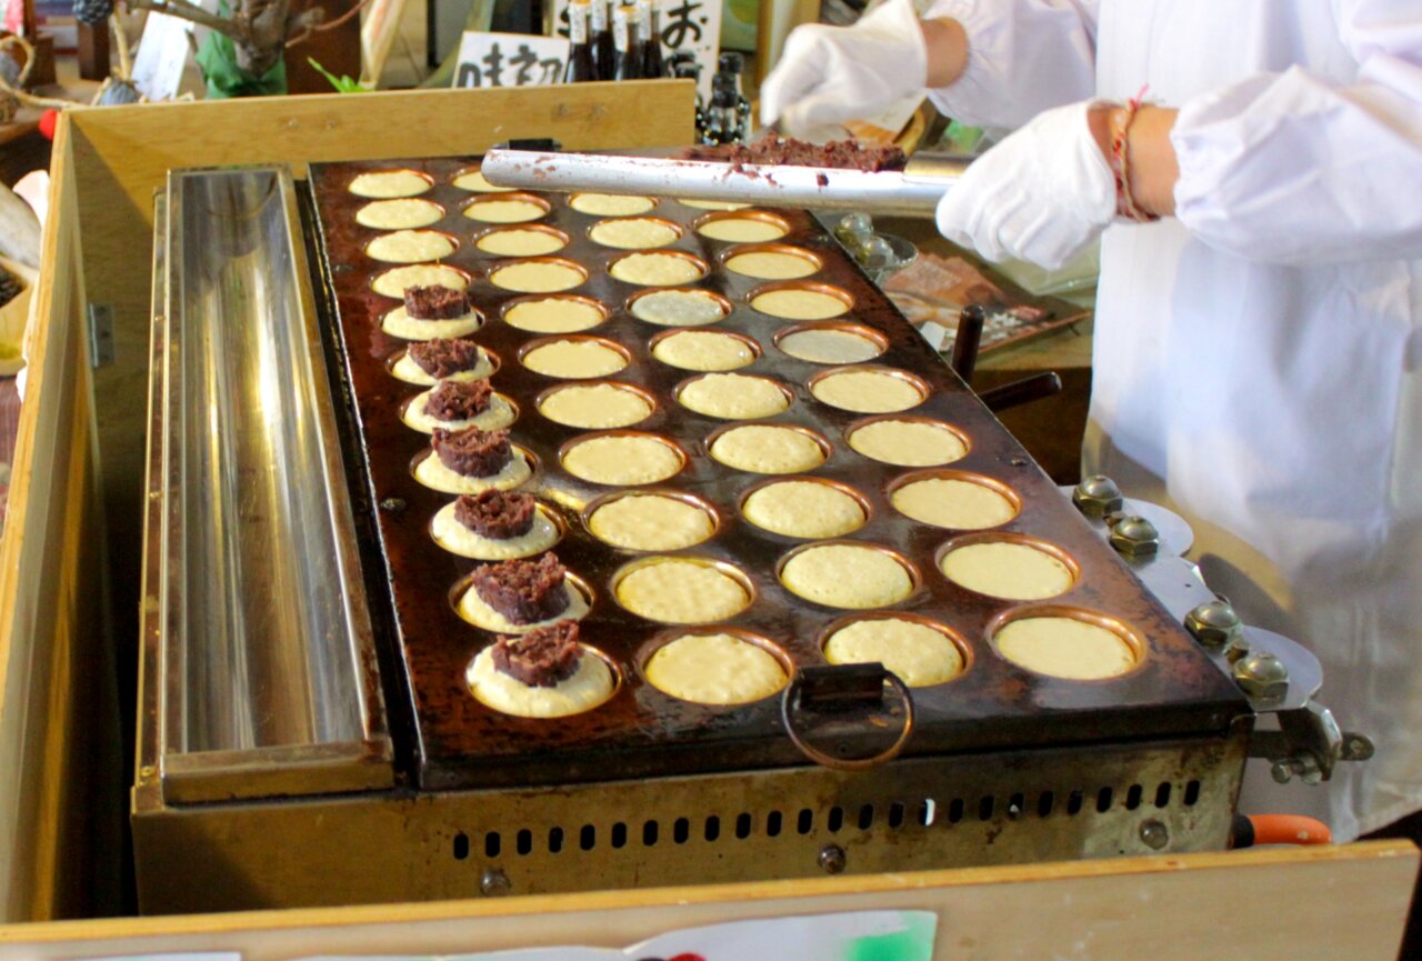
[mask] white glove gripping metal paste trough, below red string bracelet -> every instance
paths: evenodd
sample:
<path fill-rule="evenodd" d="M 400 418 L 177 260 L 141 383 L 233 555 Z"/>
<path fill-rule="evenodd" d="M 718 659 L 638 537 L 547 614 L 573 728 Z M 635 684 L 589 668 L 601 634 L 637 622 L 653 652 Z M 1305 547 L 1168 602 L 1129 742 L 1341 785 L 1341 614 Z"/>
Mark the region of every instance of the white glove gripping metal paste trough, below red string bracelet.
<path fill-rule="evenodd" d="M 1116 179 L 1092 135 L 1092 101 L 1057 107 L 973 161 L 939 202 L 939 232 L 988 260 L 1055 270 L 1116 216 Z"/>

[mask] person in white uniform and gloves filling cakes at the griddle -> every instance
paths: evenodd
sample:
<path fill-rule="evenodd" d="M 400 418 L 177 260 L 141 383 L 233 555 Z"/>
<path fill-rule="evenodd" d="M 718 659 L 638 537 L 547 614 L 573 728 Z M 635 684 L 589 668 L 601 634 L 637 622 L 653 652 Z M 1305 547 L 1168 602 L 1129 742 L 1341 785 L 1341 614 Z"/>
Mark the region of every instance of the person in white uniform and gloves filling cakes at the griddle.
<path fill-rule="evenodd" d="M 1052 267 L 1101 235 L 1085 471 L 1186 515 L 1210 586 L 1376 743 L 1241 803 L 1338 839 L 1422 809 L 1422 4 L 889 0 L 792 33 L 762 119 L 923 90 L 1018 128 L 946 193 L 948 239 Z"/>

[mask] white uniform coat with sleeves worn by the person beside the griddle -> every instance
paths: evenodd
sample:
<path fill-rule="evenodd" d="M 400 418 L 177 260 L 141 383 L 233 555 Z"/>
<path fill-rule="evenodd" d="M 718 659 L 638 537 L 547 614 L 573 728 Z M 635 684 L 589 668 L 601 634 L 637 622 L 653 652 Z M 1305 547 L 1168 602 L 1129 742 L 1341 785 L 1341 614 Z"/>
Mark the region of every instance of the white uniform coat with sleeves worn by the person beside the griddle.
<path fill-rule="evenodd" d="M 1064 31 L 1062 9 L 1085 36 L 1069 45 L 1095 41 L 1095 90 L 975 95 Z M 957 117 L 1142 84 L 1183 107 L 1182 219 L 1102 242 L 1084 471 L 1183 513 L 1209 584 L 1314 650 L 1320 699 L 1376 745 L 1321 788 L 1251 769 L 1243 809 L 1313 813 L 1347 840 L 1422 807 L 1422 3 L 933 9 L 960 11 L 988 40 L 977 80 L 934 91 Z"/>

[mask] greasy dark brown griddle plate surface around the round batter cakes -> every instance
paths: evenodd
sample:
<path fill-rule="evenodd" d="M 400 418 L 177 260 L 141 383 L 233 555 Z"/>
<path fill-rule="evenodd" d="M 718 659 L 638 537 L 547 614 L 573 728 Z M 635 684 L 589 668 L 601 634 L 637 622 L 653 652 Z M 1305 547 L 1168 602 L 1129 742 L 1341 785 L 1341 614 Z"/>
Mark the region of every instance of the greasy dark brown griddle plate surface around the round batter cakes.
<path fill-rule="evenodd" d="M 483 195 L 466 193 L 449 183 L 472 162 L 326 163 L 313 165 L 310 175 L 324 233 L 324 267 L 337 304 L 373 499 L 377 505 L 404 505 L 404 509 L 381 508 L 378 530 L 390 571 L 395 633 L 414 699 L 421 785 L 427 789 L 538 785 L 805 763 L 781 725 L 778 698 L 745 707 L 704 707 L 664 695 L 641 678 L 641 664 L 654 641 L 677 628 L 629 614 L 611 596 L 610 576 L 644 554 L 606 546 L 584 527 L 582 508 L 617 488 L 582 482 L 559 468 L 559 448 L 584 431 L 553 424 L 536 411 L 535 397 L 563 381 L 523 368 L 518 361 L 519 348 L 539 334 L 499 320 L 501 306 L 518 294 L 488 281 L 491 267 L 503 259 L 474 246 L 474 235 L 491 225 L 469 220 L 459 212 L 465 202 Z M 392 168 L 424 171 L 435 179 L 435 188 L 424 198 L 441 203 L 447 216 L 428 229 L 445 230 L 459 239 L 459 250 L 448 263 L 474 277 L 471 299 L 488 318 L 474 338 L 499 357 L 493 385 L 513 398 L 520 409 L 513 439 L 532 451 L 539 462 L 533 479 L 523 489 L 562 510 L 567 536 L 557 544 L 556 553 L 594 591 L 592 613 L 583 621 L 584 640 L 621 667 L 624 680 L 619 692 L 587 714 L 562 719 L 510 718 L 485 708 L 465 687 L 466 665 L 495 638 L 461 620 L 452 608 L 451 587 L 476 562 L 442 550 L 428 533 L 429 519 L 451 496 L 429 490 L 411 476 L 411 459 L 427 448 L 428 441 L 401 422 L 400 407 L 424 388 L 398 381 L 388 372 L 390 357 L 405 344 L 381 333 L 380 318 L 397 301 L 371 291 L 370 281 L 394 264 L 374 262 L 363 253 L 363 247 L 381 232 L 356 223 L 356 212 L 368 200 L 346 189 L 357 173 Z M 766 476 L 737 472 L 711 461 L 705 438 L 727 422 L 693 414 L 673 398 L 673 388 L 691 372 L 651 358 L 648 338 L 667 328 L 631 317 L 624 304 L 630 294 L 643 289 L 607 274 L 607 264 L 629 252 L 592 243 L 587 229 L 600 218 L 570 209 L 560 195 L 545 196 L 553 210 L 538 223 L 559 227 L 572 237 L 572 243 L 553 256 L 576 260 L 590 274 L 584 284 L 569 293 L 594 297 L 611 311 L 607 323 L 584 333 L 610 338 L 631 351 L 631 365 L 610 380 L 646 388 L 657 398 L 656 414 L 633 429 L 671 436 L 691 455 L 688 468 L 660 486 L 695 493 L 721 512 L 722 529 L 715 539 L 677 553 L 731 562 L 747 571 L 759 596 L 731 624 L 771 638 L 798 665 L 823 664 L 819 653 L 822 634 L 849 611 L 801 600 L 776 581 L 776 562 L 805 542 L 764 532 L 737 515 L 741 495 Z M 909 520 L 890 508 L 887 488 L 906 471 L 853 452 L 845 442 L 845 429 L 862 415 L 813 399 L 805 385 L 813 374 L 826 368 L 795 360 L 774 347 L 772 335 L 792 321 L 759 314 L 748 306 L 748 294 L 766 281 L 720 269 L 718 254 L 735 245 L 710 240 L 694 232 L 693 222 L 705 216 L 705 210 L 661 200 L 647 216 L 664 218 L 685 229 L 670 249 L 695 253 L 712 266 L 711 274 L 695 286 L 724 294 L 735 306 L 727 320 L 704 330 L 735 331 L 759 341 L 762 355 L 739 372 L 775 377 L 791 385 L 796 398 L 792 408 L 774 421 L 813 428 L 835 446 L 829 461 L 811 476 L 840 480 L 869 499 L 872 517 L 849 539 L 896 547 L 917 564 L 921 581 L 913 596 L 894 610 L 941 621 L 967 641 L 971 664 L 964 675 L 946 685 L 914 691 L 917 722 L 907 752 L 1221 729 L 1233 714 L 1243 709 L 1243 702 L 1219 668 L 1143 591 L 1025 451 L 944 367 L 835 240 L 805 212 L 776 213 L 791 225 L 791 233 L 782 243 L 803 247 L 825 260 L 823 270 L 808 280 L 849 291 L 856 304 L 845 318 L 875 327 L 887 337 L 887 353 L 873 363 L 912 371 L 934 388 L 926 404 L 906 414 L 941 419 L 967 434 L 971 451 L 947 468 L 995 478 L 1018 492 L 1024 503 L 1021 515 L 1001 530 L 1030 533 L 1075 557 L 1082 571 L 1078 586 L 1045 604 L 1099 611 L 1133 626 L 1148 638 L 1149 651 L 1140 667 L 1126 677 L 1099 682 L 1039 677 L 997 657 L 988 641 L 988 624 L 1001 613 L 1024 604 L 971 594 L 937 571 L 934 552 L 951 532 Z"/>

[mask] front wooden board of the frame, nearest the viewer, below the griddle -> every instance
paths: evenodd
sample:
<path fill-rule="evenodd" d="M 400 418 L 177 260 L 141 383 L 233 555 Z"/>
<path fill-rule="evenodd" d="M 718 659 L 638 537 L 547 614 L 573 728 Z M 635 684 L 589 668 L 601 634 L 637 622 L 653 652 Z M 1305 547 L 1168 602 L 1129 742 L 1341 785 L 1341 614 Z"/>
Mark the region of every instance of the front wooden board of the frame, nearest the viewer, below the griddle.
<path fill-rule="evenodd" d="M 158 951 L 466 954 L 626 947 L 673 928 L 869 908 L 939 914 L 936 961 L 1394 961 L 1406 843 L 839 877 L 771 884 L 0 927 L 0 961 Z"/>

